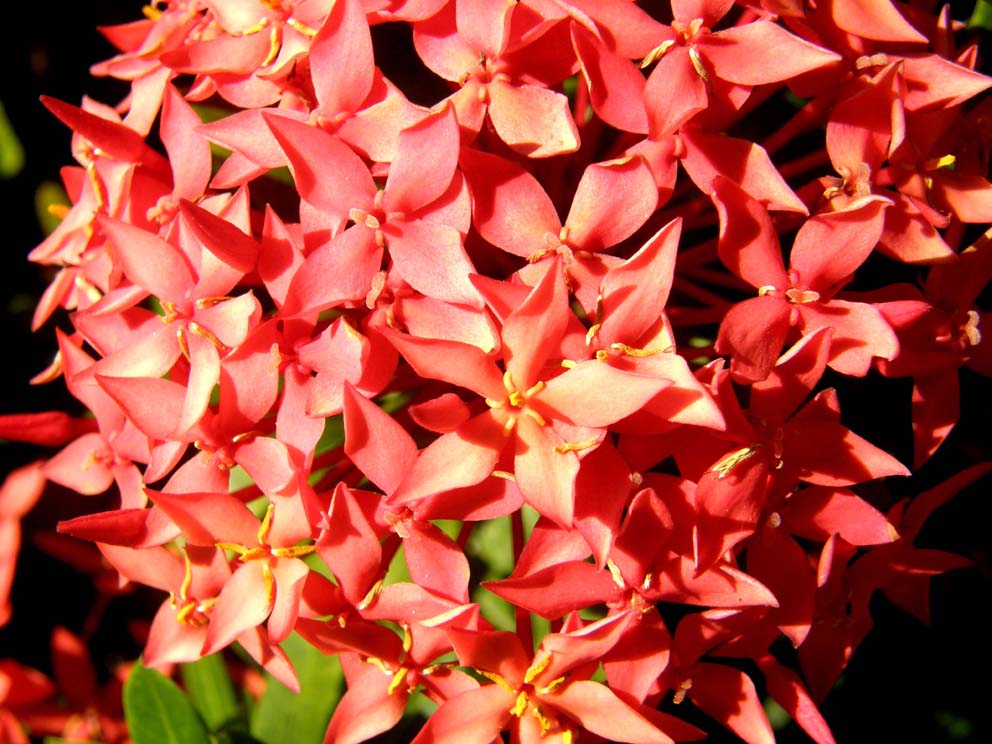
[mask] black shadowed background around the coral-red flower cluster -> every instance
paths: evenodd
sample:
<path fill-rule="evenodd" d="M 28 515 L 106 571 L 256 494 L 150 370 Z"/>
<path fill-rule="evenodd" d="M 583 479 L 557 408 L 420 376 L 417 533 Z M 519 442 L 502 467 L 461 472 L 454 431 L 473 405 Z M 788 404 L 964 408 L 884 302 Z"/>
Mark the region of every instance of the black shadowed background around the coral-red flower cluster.
<path fill-rule="evenodd" d="M 115 103 L 122 84 L 91 78 L 89 65 L 113 50 L 95 29 L 140 17 L 140 3 L 22 3 L 18 21 L 8 19 L 0 45 L 0 100 L 27 152 L 24 170 L 0 180 L 3 238 L 0 243 L 0 344 L 3 393 L 0 413 L 49 409 L 77 410 L 61 382 L 33 387 L 28 378 L 47 366 L 55 351 L 50 321 L 30 333 L 31 312 L 47 284 L 43 270 L 25 257 L 41 239 L 34 198 L 44 180 L 58 180 L 59 168 L 71 161 L 69 132 L 38 103 L 46 94 L 78 104 L 83 93 Z M 970 3 L 956 4 L 966 18 Z M 987 340 L 986 342 L 992 342 Z M 845 421 L 870 441 L 908 461 L 910 387 L 905 381 L 841 381 Z M 962 372 L 962 421 L 951 439 L 919 474 L 897 484 L 900 495 L 918 493 L 961 467 L 989 459 L 989 407 L 979 397 L 987 381 Z M 0 476 L 44 451 L 0 443 Z M 48 638 L 56 624 L 81 632 L 94 596 L 91 580 L 39 550 L 32 533 L 50 530 L 54 520 L 79 508 L 50 491 L 25 521 L 25 545 L 14 587 L 14 616 L 0 629 L 0 658 L 15 659 L 50 672 Z M 992 622 L 988 520 L 989 482 L 972 487 L 936 512 L 918 540 L 922 547 L 968 556 L 974 567 L 937 577 L 932 582 L 933 623 L 927 627 L 876 596 L 876 629 L 858 649 L 823 712 L 838 742 L 987 742 L 990 726 L 989 678 L 992 673 Z M 92 510 L 92 509 L 90 509 Z M 137 649 L 125 629 L 127 614 L 139 600 L 115 600 L 93 636 L 98 672 L 104 676 L 114 659 L 133 658 Z M 686 706 L 688 707 L 688 706 Z M 688 713 L 688 710 L 680 713 Z M 732 740 L 713 725 L 710 741 Z M 804 741 L 790 726 L 781 741 Z"/>

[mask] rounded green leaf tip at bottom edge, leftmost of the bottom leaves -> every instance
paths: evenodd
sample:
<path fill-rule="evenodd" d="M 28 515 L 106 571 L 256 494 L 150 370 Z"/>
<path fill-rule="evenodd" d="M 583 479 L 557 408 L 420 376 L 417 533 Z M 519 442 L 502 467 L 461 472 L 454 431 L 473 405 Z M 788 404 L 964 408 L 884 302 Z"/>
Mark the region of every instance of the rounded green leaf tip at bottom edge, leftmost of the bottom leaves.
<path fill-rule="evenodd" d="M 124 683 L 124 719 L 133 744 L 210 744 L 189 698 L 140 662 Z"/>

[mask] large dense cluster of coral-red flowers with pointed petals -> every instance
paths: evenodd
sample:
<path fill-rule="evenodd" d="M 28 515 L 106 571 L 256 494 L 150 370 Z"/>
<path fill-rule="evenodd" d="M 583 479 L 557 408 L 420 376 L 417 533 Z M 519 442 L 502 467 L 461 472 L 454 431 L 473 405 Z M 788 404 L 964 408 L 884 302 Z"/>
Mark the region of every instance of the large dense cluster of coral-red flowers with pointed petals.
<path fill-rule="evenodd" d="M 131 92 L 45 101 L 77 164 L 31 253 L 35 326 L 71 322 L 39 381 L 92 415 L 0 419 L 60 448 L 0 534 L 43 478 L 112 489 L 60 531 L 161 591 L 144 664 L 238 643 L 296 689 L 295 631 L 345 671 L 328 742 L 414 692 L 418 743 L 700 738 L 672 701 L 769 742 L 756 680 L 832 742 L 869 599 L 927 618 L 964 561 L 915 536 L 990 468 L 883 513 L 859 484 L 910 470 L 823 379 L 912 378 L 918 468 L 959 369 L 992 373 L 992 79 L 926 1 L 641 5 L 156 0 L 103 29 Z M 0 685 L 12 741 L 37 677 Z"/>

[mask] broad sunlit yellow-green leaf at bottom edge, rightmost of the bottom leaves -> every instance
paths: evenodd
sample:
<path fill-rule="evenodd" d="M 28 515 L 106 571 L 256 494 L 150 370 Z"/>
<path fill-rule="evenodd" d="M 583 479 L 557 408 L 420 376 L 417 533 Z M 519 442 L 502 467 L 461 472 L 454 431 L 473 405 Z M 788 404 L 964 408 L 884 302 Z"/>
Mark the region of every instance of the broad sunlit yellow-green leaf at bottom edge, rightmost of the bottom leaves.
<path fill-rule="evenodd" d="M 300 693 L 266 675 L 265 693 L 252 711 L 251 735 L 263 744 L 321 744 L 341 697 L 341 665 L 296 633 L 282 647 L 296 669 Z"/>

